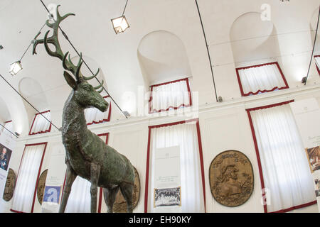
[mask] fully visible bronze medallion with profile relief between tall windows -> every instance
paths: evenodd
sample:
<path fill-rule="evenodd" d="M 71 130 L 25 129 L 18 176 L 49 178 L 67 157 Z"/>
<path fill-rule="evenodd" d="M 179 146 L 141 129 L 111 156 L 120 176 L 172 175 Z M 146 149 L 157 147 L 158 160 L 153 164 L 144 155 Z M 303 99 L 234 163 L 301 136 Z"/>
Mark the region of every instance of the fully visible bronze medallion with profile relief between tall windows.
<path fill-rule="evenodd" d="M 240 206 L 253 191 L 250 160 L 238 150 L 227 150 L 215 156 L 209 168 L 210 190 L 219 204 Z"/>

